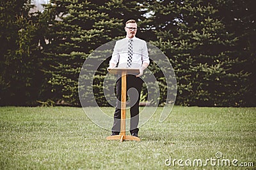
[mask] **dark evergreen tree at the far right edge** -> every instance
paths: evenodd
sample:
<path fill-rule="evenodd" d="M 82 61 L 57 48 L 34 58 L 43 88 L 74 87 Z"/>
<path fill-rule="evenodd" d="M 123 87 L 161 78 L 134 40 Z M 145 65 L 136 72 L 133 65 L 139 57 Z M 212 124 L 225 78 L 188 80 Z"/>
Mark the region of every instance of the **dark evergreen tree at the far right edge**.
<path fill-rule="evenodd" d="M 244 70 L 250 73 L 247 77 L 247 89 L 241 95 L 242 105 L 256 105 L 256 28 L 255 28 L 255 11 L 254 1 L 214 1 L 212 3 L 218 9 L 218 17 L 225 24 L 228 33 L 234 34 L 238 38 L 236 45 L 232 49 L 240 61 L 237 65 L 232 66 L 232 70 Z"/>

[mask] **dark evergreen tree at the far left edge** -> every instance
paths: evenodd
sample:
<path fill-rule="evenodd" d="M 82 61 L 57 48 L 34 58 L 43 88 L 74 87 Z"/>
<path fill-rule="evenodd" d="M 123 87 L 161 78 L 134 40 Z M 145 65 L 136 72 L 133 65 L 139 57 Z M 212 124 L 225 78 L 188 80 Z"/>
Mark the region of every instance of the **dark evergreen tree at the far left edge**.
<path fill-rule="evenodd" d="M 29 14 L 30 1 L 0 3 L 0 104 L 35 104 L 40 91 L 38 25 Z"/>

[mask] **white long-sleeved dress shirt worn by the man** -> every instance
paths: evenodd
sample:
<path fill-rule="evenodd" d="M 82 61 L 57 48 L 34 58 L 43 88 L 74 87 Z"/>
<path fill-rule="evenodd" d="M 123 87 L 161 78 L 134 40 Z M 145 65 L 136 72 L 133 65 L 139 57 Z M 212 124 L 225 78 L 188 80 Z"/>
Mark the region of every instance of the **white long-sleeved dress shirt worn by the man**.
<path fill-rule="evenodd" d="M 131 39 L 133 40 L 131 68 L 140 68 L 143 63 L 149 64 L 147 43 L 140 38 L 136 38 L 135 36 Z M 112 58 L 109 63 L 113 63 L 115 66 L 118 63 L 119 68 L 127 68 L 128 41 L 129 38 L 126 37 L 116 42 Z"/>

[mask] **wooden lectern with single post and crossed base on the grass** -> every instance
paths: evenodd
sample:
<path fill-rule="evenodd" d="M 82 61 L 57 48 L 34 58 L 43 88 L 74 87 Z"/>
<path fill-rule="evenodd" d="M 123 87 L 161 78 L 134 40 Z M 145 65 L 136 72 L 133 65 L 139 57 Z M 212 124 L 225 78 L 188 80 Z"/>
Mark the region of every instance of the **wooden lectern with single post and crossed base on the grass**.
<path fill-rule="evenodd" d="M 124 140 L 130 141 L 140 141 L 139 137 L 132 135 L 125 135 L 125 114 L 126 114 L 126 75 L 138 75 L 140 73 L 139 69 L 134 68 L 112 68 L 109 70 L 109 73 L 120 74 L 122 75 L 122 91 L 121 91 L 121 127 L 120 127 L 120 135 L 110 135 L 106 139 L 107 140 L 120 140 L 120 142 Z"/>

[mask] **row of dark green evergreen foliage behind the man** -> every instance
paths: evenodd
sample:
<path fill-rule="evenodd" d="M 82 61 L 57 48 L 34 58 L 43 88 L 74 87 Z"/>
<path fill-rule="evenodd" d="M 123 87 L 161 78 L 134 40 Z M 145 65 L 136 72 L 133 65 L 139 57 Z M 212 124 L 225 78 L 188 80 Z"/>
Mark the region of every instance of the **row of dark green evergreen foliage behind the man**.
<path fill-rule="evenodd" d="M 138 21 L 139 38 L 170 59 L 177 77 L 177 94 L 171 94 L 177 95 L 176 104 L 255 105 L 253 0 L 52 0 L 42 13 L 29 13 L 33 6 L 26 0 L 0 4 L 0 105 L 35 105 L 36 100 L 80 105 L 78 77 L 84 61 L 100 45 L 124 38 L 128 19 Z M 109 105 L 102 87 L 109 50 L 93 54 L 99 67 L 83 70 L 83 82 L 93 77 L 93 86 L 82 84 L 88 105 L 93 105 L 87 98 L 92 91 L 99 105 Z M 166 101 L 166 68 L 154 61 L 148 68 L 161 96 L 147 98 L 149 89 L 143 87 L 141 100 L 173 102 Z"/>

